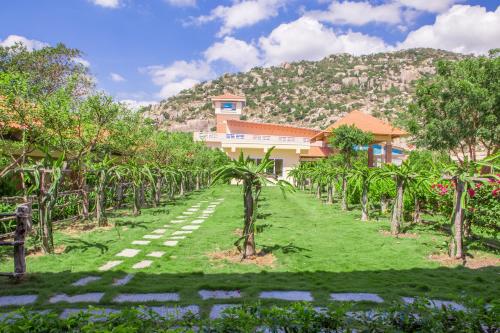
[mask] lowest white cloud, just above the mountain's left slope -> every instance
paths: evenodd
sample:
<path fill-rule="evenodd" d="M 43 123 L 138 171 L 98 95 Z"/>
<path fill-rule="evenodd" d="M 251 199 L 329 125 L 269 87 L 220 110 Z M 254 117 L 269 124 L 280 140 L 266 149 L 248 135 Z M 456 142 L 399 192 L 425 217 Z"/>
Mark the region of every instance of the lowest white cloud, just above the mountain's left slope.
<path fill-rule="evenodd" d="M 149 66 L 145 71 L 153 83 L 161 86 L 158 97 L 168 98 L 195 84 L 215 77 L 215 73 L 205 61 L 176 61 L 170 66 Z"/>

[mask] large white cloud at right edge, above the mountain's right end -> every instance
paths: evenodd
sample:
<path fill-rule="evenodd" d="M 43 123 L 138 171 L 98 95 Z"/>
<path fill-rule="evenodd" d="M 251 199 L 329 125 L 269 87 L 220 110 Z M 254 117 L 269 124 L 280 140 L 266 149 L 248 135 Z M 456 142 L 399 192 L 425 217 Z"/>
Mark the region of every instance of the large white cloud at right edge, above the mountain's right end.
<path fill-rule="evenodd" d="M 484 54 L 500 47 L 500 6 L 488 12 L 480 6 L 455 5 L 408 34 L 398 48 L 432 47 L 460 53 Z"/>

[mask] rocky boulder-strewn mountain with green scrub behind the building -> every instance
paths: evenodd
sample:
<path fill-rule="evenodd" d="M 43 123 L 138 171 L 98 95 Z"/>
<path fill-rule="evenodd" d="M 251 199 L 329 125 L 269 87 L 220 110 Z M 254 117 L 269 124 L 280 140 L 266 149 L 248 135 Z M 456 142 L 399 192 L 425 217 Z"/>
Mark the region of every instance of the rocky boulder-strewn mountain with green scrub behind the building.
<path fill-rule="evenodd" d="M 256 67 L 200 83 L 144 112 L 170 130 L 211 130 L 215 115 L 210 97 L 230 92 L 247 98 L 243 120 L 322 129 L 354 109 L 392 120 L 411 101 L 415 81 L 435 72 L 436 61 L 463 57 L 411 49 Z"/>

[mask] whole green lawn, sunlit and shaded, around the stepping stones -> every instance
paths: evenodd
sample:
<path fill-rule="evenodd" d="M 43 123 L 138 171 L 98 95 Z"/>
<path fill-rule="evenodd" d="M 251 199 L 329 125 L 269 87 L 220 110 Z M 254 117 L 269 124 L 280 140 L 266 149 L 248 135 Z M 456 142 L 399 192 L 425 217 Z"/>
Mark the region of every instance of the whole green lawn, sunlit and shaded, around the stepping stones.
<path fill-rule="evenodd" d="M 207 257 L 208 253 L 233 248 L 238 237 L 235 230 L 242 227 L 240 188 L 219 186 L 165 207 L 145 209 L 139 217 L 118 212 L 111 218 L 114 228 L 70 235 L 58 232 L 56 244 L 66 246 L 64 253 L 28 257 L 27 281 L 13 284 L 0 278 L 0 295 L 39 294 L 37 307 L 62 308 L 68 305 L 47 304 L 51 295 L 105 291 L 100 305 L 113 306 L 111 300 L 119 293 L 177 291 L 181 295 L 179 304 L 200 304 L 204 310 L 221 301 L 201 301 L 197 294 L 200 289 L 238 289 L 244 301 L 256 301 L 263 290 L 307 290 L 317 304 L 328 303 L 330 292 L 378 293 L 387 301 L 400 296 L 449 300 L 474 296 L 491 301 L 500 296 L 499 267 L 447 268 L 427 259 L 445 246 L 446 237 L 437 231 L 421 230 L 417 238 L 396 239 L 380 232 L 389 229 L 387 221 L 361 222 L 359 211 L 341 212 L 337 206 L 324 205 L 308 193 L 283 198 L 278 188 L 269 187 L 262 197 L 258 221 L 261 232 L 256 241 L 258 248 L 276 257 L 273 267 Z M 169 233 L 181 228 L 179 224 L 172 225 L 161 239 L 151 240 L 150 245 L 131 245 L 200 200 L 217 198 L 225 201 L 177 247 L 162 243 Z M 203 203 L 202 209 L 207 205 Z M 125 248 L 142 251 L 134 258 L 115 257 Z M 146 257 L 151 251 L 165 251 L 166 255 L 159 259 Z M 152 259 L 154 264 L 144 270 L 132 269 L 143 259 Z M 109 260 L 124 263 L 108 272 L 97 271 Z M 0 271 L 11 270 L 12 261 L 3 257 Z M 129 284 L 111 286 L 113 279 L 129 272 L 136 273 Z M 85 287 L 71 286 L 88 275 L 103 278 Z M 230 302 L 242 300 L 223 301 Z"/>

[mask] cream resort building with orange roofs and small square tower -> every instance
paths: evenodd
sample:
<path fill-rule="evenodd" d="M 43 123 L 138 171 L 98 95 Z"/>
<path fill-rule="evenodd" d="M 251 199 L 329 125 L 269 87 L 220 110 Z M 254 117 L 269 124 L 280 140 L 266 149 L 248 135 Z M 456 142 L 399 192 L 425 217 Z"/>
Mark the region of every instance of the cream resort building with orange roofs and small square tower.
<path fill-rule="evenodd" d="M 215 132 L 195 132 L 194 140 L 203 141 L 209 147 L 224 151 L 231 158 L 238 158 L 241 152 L 257 162 L 271 147 L 275 147 L 271 158 L 274 160 L 272 173 L 286 179 L 288 172 L 302 161 L 325 158 L 334 151 L 328 146 L 331 130 L 343 125 L 355 125 L 372 132 L 375 140 L 367 147 L 370 165 L 393 163 L 404 158 L 403 151 L 392 147 L 393 139 L 404 136 L 404 131 L 366 115 L 353 111 L 338 120 L 326 130 L 256 123 L 242 121 L 240 117 L 245 107 L 243 96 L 224 94 L 212 97 L 215 109 Z M 363 148 L 361 148 L 363 149 Z M 271 172 L 271 170 L 269 170 Z"/>

